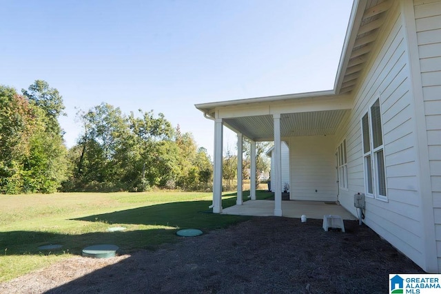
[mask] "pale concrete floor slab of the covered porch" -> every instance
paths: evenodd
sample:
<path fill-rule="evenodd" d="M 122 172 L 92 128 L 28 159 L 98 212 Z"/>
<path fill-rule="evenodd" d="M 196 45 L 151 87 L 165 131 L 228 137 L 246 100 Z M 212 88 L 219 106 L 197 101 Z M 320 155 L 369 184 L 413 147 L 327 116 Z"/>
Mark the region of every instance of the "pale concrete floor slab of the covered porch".
<path fill-rule="evenodd" d="M 349 211 L 336 202 L 289 200 L 282 201 L 282 207 L 282 216 L 286 218 L 300 218 L 305 215 L 307 218 L 320 220 L 323 216 L 331 214 L 340 216 L 342 220 L 356 220 Z M 238 216 L 274 216 L 274 201 L 249 200 L 242 205 L 227 207 L 222 213 Z"/>

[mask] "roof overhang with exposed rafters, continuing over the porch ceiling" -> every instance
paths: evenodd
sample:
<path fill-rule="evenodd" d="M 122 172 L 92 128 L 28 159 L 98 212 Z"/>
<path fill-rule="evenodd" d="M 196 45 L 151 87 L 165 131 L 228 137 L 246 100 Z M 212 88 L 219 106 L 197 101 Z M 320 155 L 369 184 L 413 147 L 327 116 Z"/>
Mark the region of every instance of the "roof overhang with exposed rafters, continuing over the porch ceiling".
<path fill-rule="evenodd" d="M 356 0 L 333 90 L 196 104 L 206 118 L 221 118 L 236 133 L 272 140 L 273 116 L 281 136 L 332 135 L 352 108 L 353 95 L 393 0 Z"/>

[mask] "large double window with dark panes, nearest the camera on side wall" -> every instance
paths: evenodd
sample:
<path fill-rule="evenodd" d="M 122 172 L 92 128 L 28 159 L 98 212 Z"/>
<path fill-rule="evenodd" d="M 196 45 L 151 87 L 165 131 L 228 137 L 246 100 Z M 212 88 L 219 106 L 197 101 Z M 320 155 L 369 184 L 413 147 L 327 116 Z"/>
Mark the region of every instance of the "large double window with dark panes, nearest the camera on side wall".
<path fill-rule="evenodd" d="M 387 200 L 380 98 L 361 119 L 366 195 Z"/>

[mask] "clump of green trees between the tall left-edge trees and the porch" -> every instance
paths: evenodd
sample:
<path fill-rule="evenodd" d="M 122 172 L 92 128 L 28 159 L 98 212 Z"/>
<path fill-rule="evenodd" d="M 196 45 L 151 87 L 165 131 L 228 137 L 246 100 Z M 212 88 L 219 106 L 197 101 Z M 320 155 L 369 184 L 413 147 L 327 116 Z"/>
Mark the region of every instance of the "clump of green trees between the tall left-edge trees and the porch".
<path fill-rule="evenodd" d="M 68 151 L 65 191 L 207 189 L 213 169 L 206 149 L 163 114 L 140 109 L 126 116 L 102 103 L 78 116 L 83 134 Z"/>

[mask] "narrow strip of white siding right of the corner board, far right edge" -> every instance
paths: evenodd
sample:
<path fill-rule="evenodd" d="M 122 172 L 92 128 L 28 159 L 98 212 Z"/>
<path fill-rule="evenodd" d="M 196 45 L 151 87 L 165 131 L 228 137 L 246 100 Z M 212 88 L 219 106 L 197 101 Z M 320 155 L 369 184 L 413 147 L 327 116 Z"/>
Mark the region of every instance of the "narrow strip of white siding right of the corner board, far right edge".
<path fill-rule="evenodd" d="M 441 1 L 414 1 L 429 149 L 429 168 L 441 271 Z"/>

